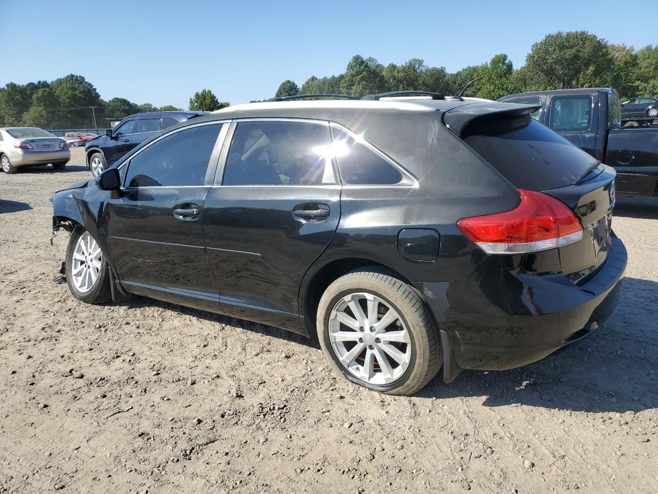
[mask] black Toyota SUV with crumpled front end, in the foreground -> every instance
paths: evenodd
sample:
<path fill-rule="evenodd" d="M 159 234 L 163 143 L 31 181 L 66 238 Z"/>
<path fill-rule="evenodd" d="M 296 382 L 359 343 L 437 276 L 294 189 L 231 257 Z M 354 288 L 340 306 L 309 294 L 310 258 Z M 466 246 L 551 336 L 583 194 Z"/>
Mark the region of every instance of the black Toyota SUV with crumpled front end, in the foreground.
<path fill-rule="evenodd" d="M 607 319 L 626 267 L 615 171 L 535 110 L 374 95 L 178 124 L 53 196 L 68 286 L 307 335 L 383 393 L 535 362 Z"/>

